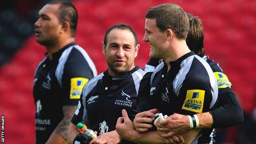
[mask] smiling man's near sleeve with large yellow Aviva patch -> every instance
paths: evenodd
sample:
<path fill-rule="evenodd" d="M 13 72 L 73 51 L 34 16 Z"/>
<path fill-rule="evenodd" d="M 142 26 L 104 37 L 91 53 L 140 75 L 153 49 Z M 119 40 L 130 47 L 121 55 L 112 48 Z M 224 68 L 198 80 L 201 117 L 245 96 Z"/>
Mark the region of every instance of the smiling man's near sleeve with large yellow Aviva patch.
<path fill-rule="evenodd" d="M 193 65 L 191 68 L 193 69 Z M 187 73 L 183 83 L 180 84 L 181 88 L 175 89 L 178 100 L 176 113 L 191 115 L 208 112 L 215 106 L 217 84 L 213 73 L 211 72 L 210 75 L 208 73 L 198 67 Z"/>

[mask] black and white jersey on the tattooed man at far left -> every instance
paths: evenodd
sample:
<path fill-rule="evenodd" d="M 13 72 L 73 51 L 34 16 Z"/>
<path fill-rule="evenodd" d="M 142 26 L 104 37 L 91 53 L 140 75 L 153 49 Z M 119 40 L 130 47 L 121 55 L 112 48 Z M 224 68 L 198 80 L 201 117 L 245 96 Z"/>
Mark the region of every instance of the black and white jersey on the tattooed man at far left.
<path fill-rule="evenodd" d="M 97 75 L 94 63 L 80 46 L 70 43 L 46 56 L 37 66 L 34 77 L 36 143 L 45 144 L 63 119 L 62 107 L 77 105 L 82 88 Z"/>

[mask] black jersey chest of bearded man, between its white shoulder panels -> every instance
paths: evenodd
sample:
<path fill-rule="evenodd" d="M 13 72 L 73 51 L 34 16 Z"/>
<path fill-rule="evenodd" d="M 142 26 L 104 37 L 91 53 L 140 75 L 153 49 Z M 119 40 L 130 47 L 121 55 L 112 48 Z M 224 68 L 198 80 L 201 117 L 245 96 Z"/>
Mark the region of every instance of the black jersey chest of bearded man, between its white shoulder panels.
<path fill-rule="evenodd" d="M 137 113 L 137 92 L 134 82 L 130 80 L 133 79 L 126 78 L 112 86 L 103 80 L 86 96 L 86 110 L 92 128 L 102 130 L 103 123 L 106 123 L 109 130 L 114 130 L 123 109 L 126 109 L 130 119 L 134 119 Z"/>

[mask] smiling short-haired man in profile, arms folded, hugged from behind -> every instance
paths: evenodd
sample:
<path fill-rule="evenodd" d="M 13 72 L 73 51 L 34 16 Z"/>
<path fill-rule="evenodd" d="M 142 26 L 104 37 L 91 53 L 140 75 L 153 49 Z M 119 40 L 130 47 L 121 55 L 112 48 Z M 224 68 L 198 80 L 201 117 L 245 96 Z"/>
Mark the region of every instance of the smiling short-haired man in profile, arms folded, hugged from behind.
<path fill-rule="evenodd" d="M 181 7 L 174 4 L 159 5 L 150 8 L 145 17 L 144 41 L 151 47 L 150 57 L 164 59 L 151 75 L 150 96 L 157 98 L 159 112 L 191 115 L 193 123 L 190 127 L 196 127 L 199 123 L 194 115 L 213 109 L 217 101 L 218 89 L 213 71 L 187 47 L 185 39 L 189 20 Z M 155 112 L 142 112 L 144 121 L 151 122 Z M 131 124 L 123 110 L 123 118 L 117 121 L 117 133 L 137 143 L 166 142 L 157 131 L 136 133 Z M 186 143 L 208 143 L 212 140 L 211 132 L 212 129 L 193 129 L 183 133 L 183 137 Z"/>

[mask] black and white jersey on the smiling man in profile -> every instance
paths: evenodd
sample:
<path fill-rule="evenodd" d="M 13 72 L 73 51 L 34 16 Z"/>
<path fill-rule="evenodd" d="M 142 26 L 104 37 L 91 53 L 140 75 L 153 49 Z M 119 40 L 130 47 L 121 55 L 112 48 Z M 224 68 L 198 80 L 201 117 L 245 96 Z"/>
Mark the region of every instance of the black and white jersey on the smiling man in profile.
<path fill-rule="evenodd" d="M 162 62 L 151 75 L 150 96 L 160 99 L 156 105 L 158 110 L 167 115 L 174 112 L 192 115 L 213 109 L 218 86 L 209 64 L 194 52 L 169 63 L 169 71 Z M 193 144 L 210 143 L 212 132 L 213 129 L 201 130 Z"/>

